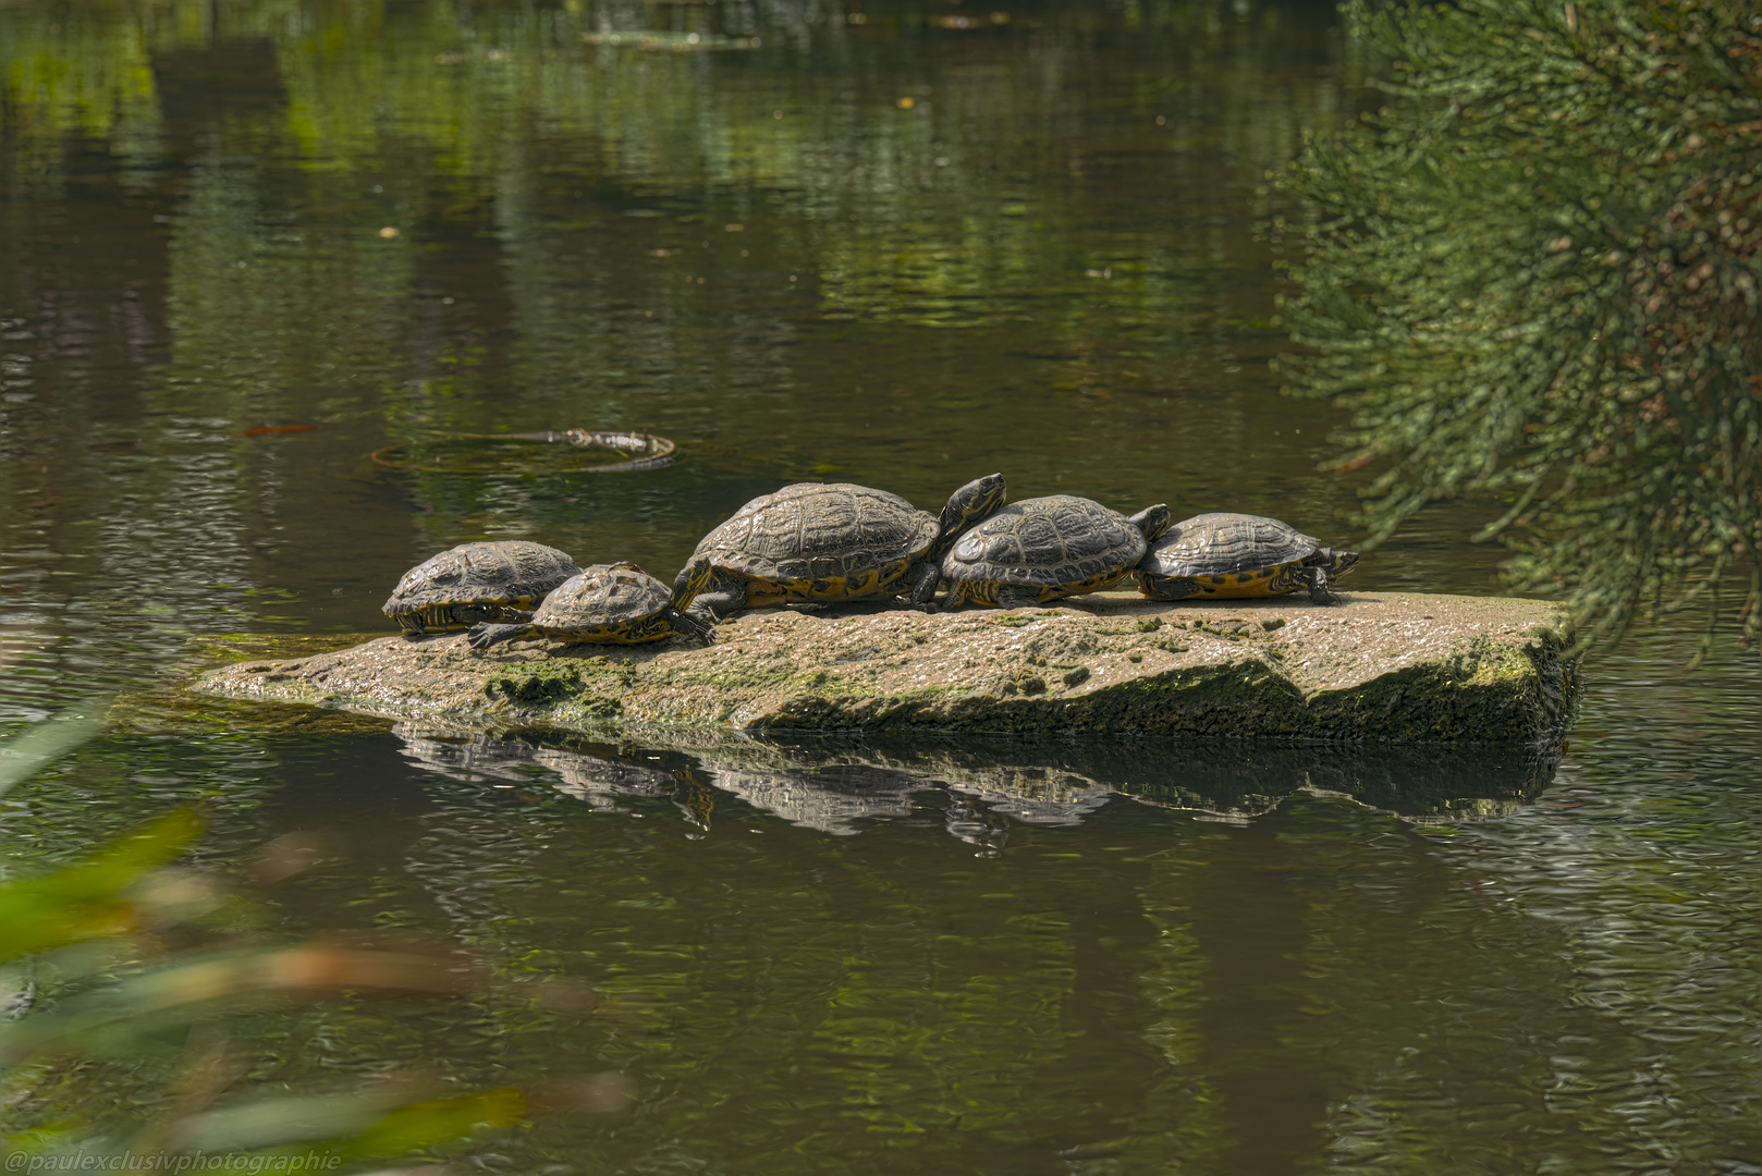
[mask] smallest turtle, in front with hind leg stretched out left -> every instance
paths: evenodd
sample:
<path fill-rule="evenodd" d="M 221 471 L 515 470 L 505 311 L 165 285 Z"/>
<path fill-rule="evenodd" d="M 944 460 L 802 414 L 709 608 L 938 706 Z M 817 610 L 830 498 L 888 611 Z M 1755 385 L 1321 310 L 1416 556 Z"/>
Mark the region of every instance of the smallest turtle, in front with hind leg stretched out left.
<path fill-rule="evenodd" d="M 465 640 L 472 649 L 488 649 L 522 636 L 634 645 L 684 633 L 714 642 L 714 629 L 685 614 L 691 598 L 710 578 L 710 561 L 691 562 L 678 578 L 684 587 L 668 589 L 636 564 L 594 564 L 552 589 L 525 624 L 474 624 Z"/>

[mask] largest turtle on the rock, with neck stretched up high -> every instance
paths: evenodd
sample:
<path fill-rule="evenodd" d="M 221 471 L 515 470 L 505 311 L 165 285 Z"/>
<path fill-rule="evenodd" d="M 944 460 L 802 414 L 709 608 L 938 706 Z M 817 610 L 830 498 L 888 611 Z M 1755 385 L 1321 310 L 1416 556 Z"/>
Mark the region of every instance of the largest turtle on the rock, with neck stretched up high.
<path fill-rule="evenodd" d="M 900 592 L 929 607 L 943 552 L 1006 494 L 1003 474 L 974 478 L 948 497 L 941 518 L 848 481 L 800 481 L 765 494 L 698 543 L 692 561 L 708 559 L 715 569 L 692 608 L 726 617 L 756 605 Z"/>

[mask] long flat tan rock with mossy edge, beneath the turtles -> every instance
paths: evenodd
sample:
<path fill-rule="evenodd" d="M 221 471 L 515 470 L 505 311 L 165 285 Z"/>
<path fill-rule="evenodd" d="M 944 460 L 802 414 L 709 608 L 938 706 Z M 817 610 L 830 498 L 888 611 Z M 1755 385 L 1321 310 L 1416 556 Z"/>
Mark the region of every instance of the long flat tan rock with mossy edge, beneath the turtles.
<path fill-rule="evenodd" d="M 1043 610 L 766 608 L 714 647 L 384 636 L 197 688 L 486 728 L 996 732 L 1558 742 L 1573 689 L 1547 601 L 1351 592 Z"/>

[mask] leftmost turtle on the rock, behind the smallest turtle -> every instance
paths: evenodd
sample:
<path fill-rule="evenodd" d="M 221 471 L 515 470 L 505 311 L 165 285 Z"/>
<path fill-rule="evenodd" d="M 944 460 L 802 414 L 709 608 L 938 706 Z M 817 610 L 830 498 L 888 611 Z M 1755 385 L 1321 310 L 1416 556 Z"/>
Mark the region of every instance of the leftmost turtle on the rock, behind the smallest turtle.
<path fill-rule="evenodd" d="M 405 571 L 384 612 L 405 635 L 530 621 L 544 594 L 578 571 L 573 559 L 543 543 L 462 543 Z"/>

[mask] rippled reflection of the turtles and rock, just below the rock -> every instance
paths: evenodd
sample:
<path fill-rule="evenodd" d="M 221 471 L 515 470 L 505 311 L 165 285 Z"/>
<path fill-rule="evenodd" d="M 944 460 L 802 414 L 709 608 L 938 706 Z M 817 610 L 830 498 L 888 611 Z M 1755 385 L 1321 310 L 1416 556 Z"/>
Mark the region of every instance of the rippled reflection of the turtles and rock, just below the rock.
<path fill-rule="evenodd" d="M 1242 823 L 1295 793 L 1339 795 L 1411 822 L 1514 811 L 1552 779 L 1558 756 L 1390 748 L 1281 748 L 1128 741 L 936 742 L 747 737 L 618 746 L 560 733 L 396 728 L 405 755 L 465 783 L 550 785 L 608 813 L 622 797 L 670 797 L 705 829 L 708 788 L 833 836 L 865 818 L 911 816 L 943 793 L 950 836 L 997 852 L 1011 823 L 1077 825 L 1115 795 Z"/>

